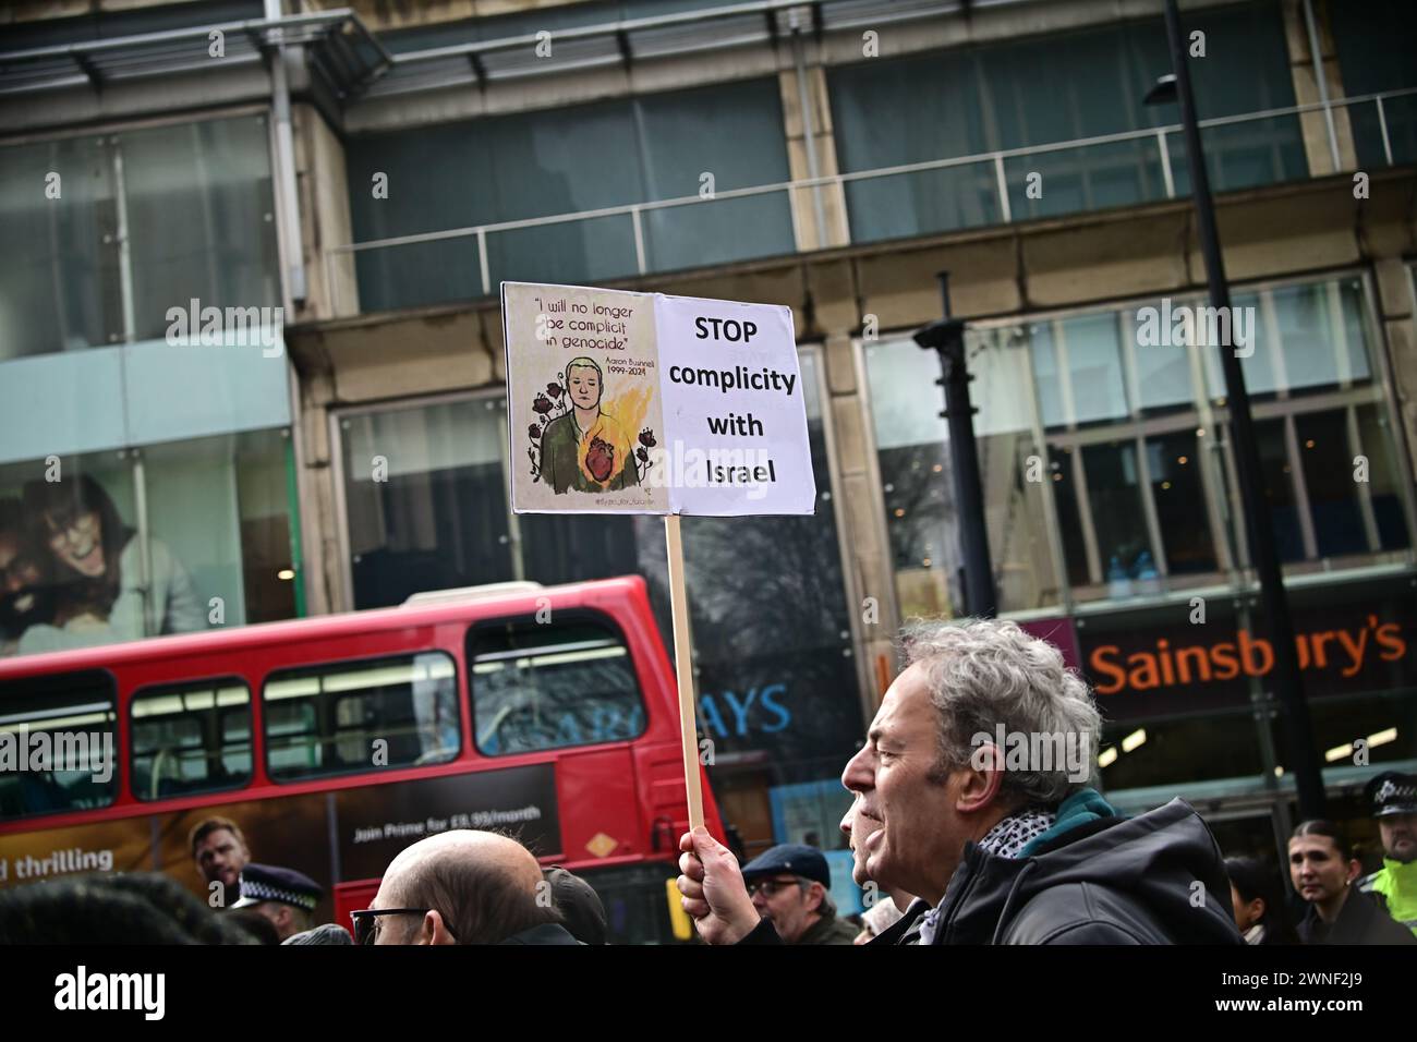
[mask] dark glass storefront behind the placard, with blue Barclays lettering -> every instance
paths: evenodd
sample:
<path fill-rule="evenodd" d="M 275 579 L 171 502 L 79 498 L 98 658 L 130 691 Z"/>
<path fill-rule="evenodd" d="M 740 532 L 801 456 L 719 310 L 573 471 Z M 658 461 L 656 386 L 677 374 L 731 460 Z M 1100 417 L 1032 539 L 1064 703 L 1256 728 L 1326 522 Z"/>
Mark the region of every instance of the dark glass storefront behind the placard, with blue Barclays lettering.
<path fill-rule="evenodd" d="M 808 831 L 839 845 L 849 795 L 837 777 L 864 732 L 820 357 L 801 357 L 816 515 L 683 520 L 700 733 L 714 743 L 724 817 L 750 851 Z M 503 396 L 349 410 L 336 422 L 353 607 L 639 574 L 672 648 L 660 519 L 512 515 Z M 828 819 L 823 832 L 815 822 Z"/>

